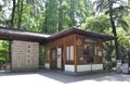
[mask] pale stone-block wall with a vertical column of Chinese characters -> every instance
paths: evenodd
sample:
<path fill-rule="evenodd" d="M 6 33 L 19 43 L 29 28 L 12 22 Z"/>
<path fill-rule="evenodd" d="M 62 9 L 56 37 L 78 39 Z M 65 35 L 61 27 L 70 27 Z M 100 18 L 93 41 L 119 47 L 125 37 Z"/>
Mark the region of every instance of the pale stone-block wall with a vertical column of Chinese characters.
<path fill-rule="evenodd" d="M 39 43 L 12 41 L 12 71 L 37 69 L 39 67 Z"/>

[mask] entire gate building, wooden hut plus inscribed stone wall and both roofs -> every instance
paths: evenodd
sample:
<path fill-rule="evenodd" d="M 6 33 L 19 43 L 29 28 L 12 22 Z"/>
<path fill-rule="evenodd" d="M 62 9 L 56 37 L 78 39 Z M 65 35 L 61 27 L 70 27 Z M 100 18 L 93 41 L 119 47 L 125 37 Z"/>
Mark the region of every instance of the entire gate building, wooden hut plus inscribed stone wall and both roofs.
<path fill-rule="evenodd" d="M 0 28 L 0 39 L 11 40 L 11 69 L 37 69 L 39 46 L 44 46 L 44 67 L 69 73 L 103 69 L 103 42 L 115 37 L 70 27 L 55 35 Z"/>

